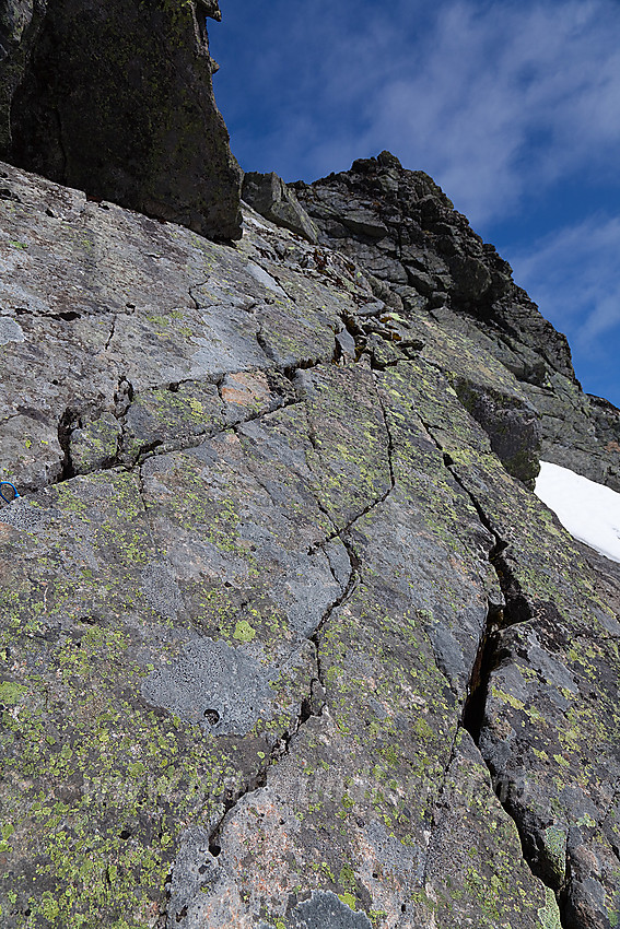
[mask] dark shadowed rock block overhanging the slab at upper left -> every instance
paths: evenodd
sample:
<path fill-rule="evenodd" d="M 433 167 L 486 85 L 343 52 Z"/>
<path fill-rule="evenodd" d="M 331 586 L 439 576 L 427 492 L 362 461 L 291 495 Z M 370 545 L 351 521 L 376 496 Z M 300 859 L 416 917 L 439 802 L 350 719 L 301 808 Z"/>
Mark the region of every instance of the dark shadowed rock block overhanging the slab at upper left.
<path fill-rule="evenodd" d="M 241 235 L 212 91 L 215 0 L 4 0 L 0 155 L 202 235 Z"/>

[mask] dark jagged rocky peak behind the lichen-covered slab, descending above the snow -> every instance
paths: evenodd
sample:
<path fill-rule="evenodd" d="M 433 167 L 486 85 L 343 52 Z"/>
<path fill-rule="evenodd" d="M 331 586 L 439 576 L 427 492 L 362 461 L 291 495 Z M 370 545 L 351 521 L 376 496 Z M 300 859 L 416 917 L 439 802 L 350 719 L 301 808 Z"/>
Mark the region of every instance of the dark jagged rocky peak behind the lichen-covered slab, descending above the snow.
<path fill-rule="evenodd" d="M 527 404 L 519 412 L 514 398 L 481 392 L 467 376 L 456 386 L 484 428 L 496 421 L 493 450 L 504 461 L 515 459 L 512 473 L 527 479 L 535 470 L 533 457 L 513 447 L 515 434 L 531 431 L 525 410 L 534 408 L 545 460 L 620 490 L 619 411 L 583 393 L 565 338 L 428 175 L 403 169 L 383 152 L 354 162 L 350 172 L 293 188 L 321 230 L 320 242 L 367 269 L 379 297 L 397 311 L 422 311 L 443 329 L 463 332 L 478 353 L 494 355 L 514 375 Z"/>

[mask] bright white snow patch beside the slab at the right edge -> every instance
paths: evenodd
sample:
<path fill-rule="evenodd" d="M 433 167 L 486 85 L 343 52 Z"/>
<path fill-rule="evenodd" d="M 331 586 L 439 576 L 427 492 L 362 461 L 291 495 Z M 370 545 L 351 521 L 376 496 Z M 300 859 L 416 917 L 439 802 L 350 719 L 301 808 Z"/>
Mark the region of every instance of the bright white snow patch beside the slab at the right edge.
<path fill-rule="evenodd" d="M 573 538 L 620 562 L 620 494 L 568 468 L 540 462 L 536 496 Z"/>

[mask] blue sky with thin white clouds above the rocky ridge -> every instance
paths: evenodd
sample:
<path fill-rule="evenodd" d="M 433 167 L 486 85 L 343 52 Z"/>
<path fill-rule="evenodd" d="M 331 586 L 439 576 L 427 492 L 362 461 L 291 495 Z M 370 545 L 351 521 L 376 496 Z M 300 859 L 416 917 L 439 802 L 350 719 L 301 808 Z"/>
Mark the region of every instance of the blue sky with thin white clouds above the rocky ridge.
<path fill-rule="evenodd" d="M 428 172 L 620 407 L 618 0 L 220 0 L 215 95 L 245 170 Z"/>

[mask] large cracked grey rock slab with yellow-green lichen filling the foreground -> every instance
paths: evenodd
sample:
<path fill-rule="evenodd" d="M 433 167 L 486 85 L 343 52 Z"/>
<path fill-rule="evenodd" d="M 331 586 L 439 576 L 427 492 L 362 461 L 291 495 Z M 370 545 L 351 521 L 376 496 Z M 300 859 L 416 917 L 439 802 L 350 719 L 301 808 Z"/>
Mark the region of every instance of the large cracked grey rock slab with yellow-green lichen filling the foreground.
<path fill-rule="evenodd" d="M 620 571 L 482 284 L 3 174 L 2 926 L 616 925 Z"/>

